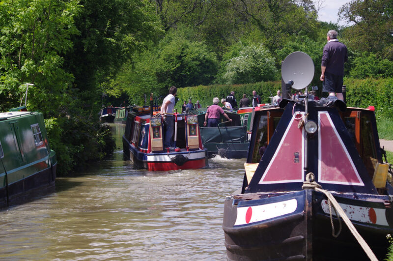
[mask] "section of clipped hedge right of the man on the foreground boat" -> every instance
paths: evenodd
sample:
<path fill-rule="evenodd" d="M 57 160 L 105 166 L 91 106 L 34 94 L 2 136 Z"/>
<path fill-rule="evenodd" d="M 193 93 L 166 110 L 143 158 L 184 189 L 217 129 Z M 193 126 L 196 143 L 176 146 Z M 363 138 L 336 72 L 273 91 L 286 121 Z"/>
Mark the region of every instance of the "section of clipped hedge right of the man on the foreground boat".
<path fill-rule="evenodd" d="M 357 80 L 345 78 L 347 106 L 375 107 L 377 119 L 393 119 L 393 78 Z"/>

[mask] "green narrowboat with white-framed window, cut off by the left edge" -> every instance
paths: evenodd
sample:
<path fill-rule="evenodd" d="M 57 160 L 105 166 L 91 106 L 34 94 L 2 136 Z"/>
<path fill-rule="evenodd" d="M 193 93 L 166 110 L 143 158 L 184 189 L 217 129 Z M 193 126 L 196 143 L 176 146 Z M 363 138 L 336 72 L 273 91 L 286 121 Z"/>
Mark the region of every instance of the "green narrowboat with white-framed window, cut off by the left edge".
<path fill-rule="evenodd" d="M 54 187 L 56 153 L 51 150 L 44 116 L 25 106 L 0 113 L 0 206 Z"/>

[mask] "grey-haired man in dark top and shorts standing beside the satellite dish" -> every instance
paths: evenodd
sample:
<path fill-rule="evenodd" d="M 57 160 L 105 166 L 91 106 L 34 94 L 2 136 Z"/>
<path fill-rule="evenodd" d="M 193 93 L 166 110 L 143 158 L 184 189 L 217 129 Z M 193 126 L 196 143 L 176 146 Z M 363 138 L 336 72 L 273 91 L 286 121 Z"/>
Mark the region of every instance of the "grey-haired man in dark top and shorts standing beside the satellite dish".
<path fill-rule="evenodd" d="M 321 78 L 322 91 L 329 92 L 329 96 L 337 95 L 344 100 L 342 84 L 344 83 L 344 62 L 348 60 L 348 50 L 345 44 L 337 40 L 337 31 L 330 30 L 326 36 L 328 43 L 323 48 Z"/>

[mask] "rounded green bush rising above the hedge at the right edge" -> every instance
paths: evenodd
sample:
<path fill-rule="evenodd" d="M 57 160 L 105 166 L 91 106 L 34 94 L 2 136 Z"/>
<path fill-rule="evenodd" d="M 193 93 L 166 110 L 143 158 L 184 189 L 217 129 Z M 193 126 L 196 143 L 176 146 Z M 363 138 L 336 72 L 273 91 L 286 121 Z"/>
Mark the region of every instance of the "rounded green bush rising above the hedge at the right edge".
<path fill-rule="evenodd" d="M 375 54 L 364 52 L 361 56 L 354 58 L 349 76 L 357 79 L 392 77 L 393 61 L 387 58 L 377 58 Z"/>

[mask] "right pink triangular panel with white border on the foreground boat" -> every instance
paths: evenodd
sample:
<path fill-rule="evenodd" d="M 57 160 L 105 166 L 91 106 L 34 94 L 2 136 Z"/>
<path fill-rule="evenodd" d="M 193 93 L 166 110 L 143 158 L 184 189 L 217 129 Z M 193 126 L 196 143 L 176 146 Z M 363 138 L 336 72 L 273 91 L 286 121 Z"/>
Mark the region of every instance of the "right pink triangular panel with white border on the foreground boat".
<path fill-rule="evenodd" d="M 327 112 L 318 113 L 318 182 L 364 185 Z"/>

